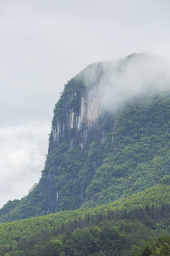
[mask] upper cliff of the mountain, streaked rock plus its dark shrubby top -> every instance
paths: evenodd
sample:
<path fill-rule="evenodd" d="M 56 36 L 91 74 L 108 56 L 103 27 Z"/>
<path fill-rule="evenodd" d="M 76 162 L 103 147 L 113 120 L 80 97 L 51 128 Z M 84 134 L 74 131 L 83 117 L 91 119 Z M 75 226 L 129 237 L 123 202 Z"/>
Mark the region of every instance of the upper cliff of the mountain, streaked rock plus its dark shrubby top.
<path fill-rule="evenodd" d="M 67 142 L 69 148 L 77 144 L 83 149 L 86 145 L 88 131 L 96 126 L 96 120 L 101 114 L 98 80 L 88 86 L 86 80 L 78 75 L 65 86 L 55 108 L 50 148 L 63 142 Z"/>

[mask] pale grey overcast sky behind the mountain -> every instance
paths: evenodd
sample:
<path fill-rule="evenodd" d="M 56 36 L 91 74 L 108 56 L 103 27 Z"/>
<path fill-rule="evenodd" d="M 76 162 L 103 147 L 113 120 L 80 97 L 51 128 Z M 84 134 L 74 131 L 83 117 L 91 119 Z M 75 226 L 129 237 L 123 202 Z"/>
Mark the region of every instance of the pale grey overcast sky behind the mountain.
<path fill-rule="evenodd" d="M 0 206 L 40 178 L 53 108 L 86 65 L 170 60 L 169 0 L 0 0 Z"/>

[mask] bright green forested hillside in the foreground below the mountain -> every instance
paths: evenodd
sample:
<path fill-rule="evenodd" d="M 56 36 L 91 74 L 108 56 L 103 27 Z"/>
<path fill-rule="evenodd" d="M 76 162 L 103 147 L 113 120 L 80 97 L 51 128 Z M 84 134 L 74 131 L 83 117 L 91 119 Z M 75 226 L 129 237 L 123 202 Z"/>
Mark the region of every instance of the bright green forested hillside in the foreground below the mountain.
<path fill-rule="evenodd" d="M 127 256 L 132 245 L 138 252 L 147 238 L 170 235 L 169 180 L 100 207 L 1 223 L 0 255 Z"/>

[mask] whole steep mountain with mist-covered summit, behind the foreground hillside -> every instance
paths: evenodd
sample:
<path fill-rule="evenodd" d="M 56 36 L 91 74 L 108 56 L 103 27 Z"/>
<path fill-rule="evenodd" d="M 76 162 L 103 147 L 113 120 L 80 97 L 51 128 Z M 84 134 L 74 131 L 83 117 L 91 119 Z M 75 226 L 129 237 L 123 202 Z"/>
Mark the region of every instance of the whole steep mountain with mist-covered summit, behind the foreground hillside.
<path fill-rule="evenodd" d="M 147 53 L 89 65 L 69 80 L 42 177 L 1 208 L 1 222 L 100 206 L 169 175 L 169 85 L 169 64 Z"/>

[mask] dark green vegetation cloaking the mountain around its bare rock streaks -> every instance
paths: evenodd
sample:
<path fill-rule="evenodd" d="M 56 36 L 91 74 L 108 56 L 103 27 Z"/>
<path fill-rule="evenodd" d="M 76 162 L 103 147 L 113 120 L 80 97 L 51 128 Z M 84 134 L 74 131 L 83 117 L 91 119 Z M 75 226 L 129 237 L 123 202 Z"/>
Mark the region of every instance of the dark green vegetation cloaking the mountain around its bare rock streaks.
<path fill-rule="evenodd" d="M 66 85 L 52 121 L 53 126 L 57 120 L 64 123 L 65 132 L 58 142 L 50 135 L 40 182 L 21 201 L 9 201 L 1 208 L 1 222 L 111 203 L 169 175 L 169 94 L 145 95 L 115 113 L 103 111 L 97 125 L 85 131 L 88 136 L 81 150 L 84 130 L 69 129 L 67 115 L 70 106 L 79 114 L 85 93 L 78 78 Z"/>

